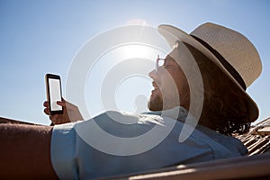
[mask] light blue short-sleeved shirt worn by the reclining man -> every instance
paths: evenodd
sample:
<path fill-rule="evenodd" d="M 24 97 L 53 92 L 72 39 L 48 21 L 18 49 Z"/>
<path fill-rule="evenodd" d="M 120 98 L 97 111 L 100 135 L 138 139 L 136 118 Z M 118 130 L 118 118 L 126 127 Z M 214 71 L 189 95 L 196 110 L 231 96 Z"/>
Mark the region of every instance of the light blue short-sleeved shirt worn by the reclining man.
<path fill-rule="evenodd" d="M 172 118 L 175 111 L 179 115 Z M 187 115 L 182 107 L 146 114 L 111 111 L 56 125 L 53 168 L 60 179 L 91 179 L 247 154 L 238 139 L 200 125 L 184 126 Z M 184 141 L 179 141 L 180 132 Z"/>

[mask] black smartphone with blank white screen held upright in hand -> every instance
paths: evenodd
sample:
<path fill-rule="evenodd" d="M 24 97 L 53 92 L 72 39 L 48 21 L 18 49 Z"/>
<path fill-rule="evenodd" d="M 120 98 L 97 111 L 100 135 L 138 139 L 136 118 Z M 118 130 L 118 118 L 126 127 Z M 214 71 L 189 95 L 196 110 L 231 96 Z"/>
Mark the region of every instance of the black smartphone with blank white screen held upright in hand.
<path fill-rule="evenodd" d="M 46 74 L 47 101 L 50 115 L 62 114 L 63 107 L 58 105 L 62 101 L 61 78 L 58 75 Z"/>

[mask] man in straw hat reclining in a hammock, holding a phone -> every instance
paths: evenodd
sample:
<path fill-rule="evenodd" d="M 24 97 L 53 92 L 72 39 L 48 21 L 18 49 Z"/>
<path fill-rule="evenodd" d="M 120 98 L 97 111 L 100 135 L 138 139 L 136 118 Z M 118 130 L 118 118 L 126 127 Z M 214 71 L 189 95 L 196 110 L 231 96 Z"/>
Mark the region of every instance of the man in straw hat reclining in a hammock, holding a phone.
<path fill-rule="evenodd" d="M 257 120 L 257 104 L 245 91 L 261 72 L 257 49 L 237 31 L 213 23 L 190 35 L 170 25 L 158 30 L 174 49 L 165 59 L 157 58 L 149 73 L 154 90 L 148 108 L 153 112 L 104 112 L 80 121 L 77 107 L 63 101 L 58 104 L 65 113 L 50 116 L 60 124 L 53 128 L 1 125 L 1 175 L 88 179 L 246 155 L 247 148 L 227 135 L 244 133 Z M 203 88 L 193 89 L 196 85 Z M 199 117 L 189 114 L 201 105 Z M 44 106 L 49 114 L 48 103 Z M 103 131 L 120 140 L 104 143 Z M 162 140 L 152 146 L 160 134 Z M 137 137 L 146 138 L 134 141 Z"/>

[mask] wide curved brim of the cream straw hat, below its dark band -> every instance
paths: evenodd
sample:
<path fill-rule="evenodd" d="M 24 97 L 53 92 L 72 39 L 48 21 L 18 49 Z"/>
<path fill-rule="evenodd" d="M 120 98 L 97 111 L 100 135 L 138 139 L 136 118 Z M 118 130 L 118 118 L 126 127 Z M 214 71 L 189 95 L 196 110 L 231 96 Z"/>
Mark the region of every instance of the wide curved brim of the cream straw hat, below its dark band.
<path fill-rule="evenodd" d="M 229 79 L 232 80 L 232 82 L 238 85 L 238 88 L 242 91 L 243 95 L 247 99 L 250 121 L 252 122 L 257 120 L 259 115 L 257 103 L 253 101 L 253 99 L 247 94 L 247 92 L 241 87 L 241 85 L 238 84 L 237 80 L 230 75 L 229 71 L 225 67 L 223 67 L 223 65 L 220 63 L 220 60 L 216 58 L 209 49 L 205 48 L 198 40 L 195 40 L 191 35 L 176 28 L 175 26 L 166 24 L 159 25 L 158 32 L 166 39 L 166 41 L 171 47 L 174 47 L 176 40 L 183 41 L 193 46 L 193 48 L 200 50 L 202 54 L 204 54 L 207 58 L 209 58 L 215 65 L 220 67 L 220 70 L 226 76 L 228 76 Z"/>

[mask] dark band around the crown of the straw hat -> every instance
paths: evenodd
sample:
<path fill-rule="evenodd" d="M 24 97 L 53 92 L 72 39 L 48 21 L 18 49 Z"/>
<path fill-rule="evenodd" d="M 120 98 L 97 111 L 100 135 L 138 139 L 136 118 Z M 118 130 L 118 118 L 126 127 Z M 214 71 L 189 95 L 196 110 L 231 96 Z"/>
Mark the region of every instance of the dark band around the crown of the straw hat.
<path fill-rule="evenodd" d="M 247 89 L 247 86 L 243 80 L 243 78 L 238 74 L 238 71 L 232 67 L 229 62 L 223 58 L 220 53 L 216 50 L 216 49 L 213 49 L 211 48 L 211 46 L 205 42 L 204 40 L 196 37 L 196 36 L 193 36 L 191 35 L 195 40 L 199 41 L 205 48 L 209 49 L 211 51 L 211 53 L 219 59 L 220 63 L 223 65 L 223 67 L 225 67 L 228 71 L 229 71 L 229 74 L 231 76 L 234 77 L 235 80 L 237 80 L 238 84 L 241 85 L 241 87 L 246 91 Z"/>

